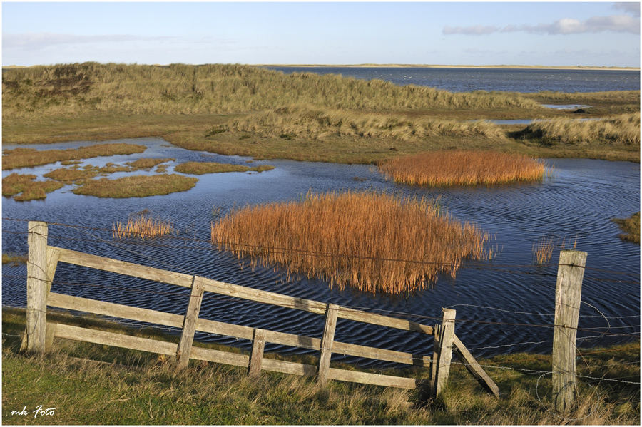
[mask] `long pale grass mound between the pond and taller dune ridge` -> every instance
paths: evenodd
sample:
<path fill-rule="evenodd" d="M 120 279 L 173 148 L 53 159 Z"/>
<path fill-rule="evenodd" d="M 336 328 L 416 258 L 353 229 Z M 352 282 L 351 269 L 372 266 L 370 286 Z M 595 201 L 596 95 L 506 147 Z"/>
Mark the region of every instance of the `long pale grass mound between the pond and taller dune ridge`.
<path fill-rule="evenodd" d="M 220 127 L 217 130 L 223 131 Z M 499 126 L 484 120 L 438 120 L 434 118 L 404 118 L 392 113 L 364 113 L 357 110 L 337 110 L 312 105 L 292 104 L 281 108 L 252 113 L 228 123 L 230 132 L 248 132 L 263 137 L 292 139 L 360 136 L 416 140 L 437 135 L 484 135 L 503 138 Z"/>

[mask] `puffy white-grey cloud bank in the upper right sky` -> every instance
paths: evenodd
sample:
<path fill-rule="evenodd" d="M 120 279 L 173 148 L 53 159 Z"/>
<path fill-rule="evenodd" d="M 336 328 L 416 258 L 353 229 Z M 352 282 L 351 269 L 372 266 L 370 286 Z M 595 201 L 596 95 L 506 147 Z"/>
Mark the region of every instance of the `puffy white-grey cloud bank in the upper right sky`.
<path fill-rule="evenodd" d="M 638 4 L 639 16 L 639 4 Z M 510 33 L 514 31 L 526 31 L 534 34 L 583 34 L 583 33 L 601 33 L 603 31 L 613 31 L 615 33 L 632 33 L 640 34 L 640 19 L 628 15 L 610 15 L 610 16 L 593 16 L 586 21 L 578 19 L 563 18 L 552 22 L 551 24 L 532 25 L 509 25 L 502 29 L 495 26 L 444 26 L 443 33 L 482 35 L 496 32 Z"/>

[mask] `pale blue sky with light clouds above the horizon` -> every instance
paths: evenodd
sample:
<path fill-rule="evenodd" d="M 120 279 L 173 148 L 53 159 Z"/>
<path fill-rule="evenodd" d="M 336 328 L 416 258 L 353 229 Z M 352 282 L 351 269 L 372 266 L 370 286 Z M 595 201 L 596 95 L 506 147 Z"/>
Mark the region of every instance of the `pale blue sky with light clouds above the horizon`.
<path fill-rule="evenodd" d="M 2 3 L 2 65 L 640 66 L 640 3 Z"/>

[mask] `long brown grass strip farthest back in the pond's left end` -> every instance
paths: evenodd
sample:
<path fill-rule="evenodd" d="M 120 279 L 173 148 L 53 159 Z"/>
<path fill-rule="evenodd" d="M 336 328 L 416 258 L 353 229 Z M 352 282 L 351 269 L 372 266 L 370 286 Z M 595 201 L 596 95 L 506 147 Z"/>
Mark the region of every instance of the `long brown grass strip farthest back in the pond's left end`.
<path fill-rule="evenodd" d="M 68 150 L 14 148 L 13 150 L 3 150 L 2 170 L 47 165 L 61 160 L 80 160 L 117 154 L 143 153 L 146 149 L 147 147 L 145 145 L 126 143 L 86 145 L 84 147 L 70 148 Z"/>

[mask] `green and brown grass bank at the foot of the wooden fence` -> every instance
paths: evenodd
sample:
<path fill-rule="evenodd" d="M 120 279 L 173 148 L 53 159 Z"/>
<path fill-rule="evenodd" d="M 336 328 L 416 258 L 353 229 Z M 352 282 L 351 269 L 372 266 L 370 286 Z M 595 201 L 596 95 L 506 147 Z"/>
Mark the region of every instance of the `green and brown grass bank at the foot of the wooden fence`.
<path fill-rule="evenodd" d="M 47 317 L 76 326 L 178 342 L 177 337 L 153 329 L 126 329 L 97 319 L 59 314 Z M 265 371 L 260 379 L 251 380 L 247 369 L 197 361 L 178 371 L 171 358 L 63 339 L 54 341 L 53 351 L 47 356 L 24 356 L 18 353 L 25 328 L 24 309 L 4 307 L 2 318 L 5 425 L 640 425 L 639 384 L 608 381 L 639 381 L 639 342 L 583 351 L 586 364 L 578 364 L 579 374 L 598 379 L 583 381 L 590 382 L 599 397 L 580 384 L 579 408 L 568 417 L 588 417 L 566 421 L 547 411 L 552 408 L 546 396 L 550 375 L 544 376 L 538 386 L 539 374 L 529 371 L 486 367 L 499 386 L 501 398 L 496 399 L 481 390 L 464 366 L 455 364 L 444 397 L 432 402 L 425 401 L 420 391 L 340 381 L 330 381 L 322 389 L 311 379 Z M 551 369 L 550 356 L 537 354 L 496 356 L 479 362 L 502 368 Z M 332 366 L 337 365 L 333 362 Z M 428 376 L 427 370 L 382 373 Z M 39 405 L 56 408 L 54 415 L 34 418 L 31 411 Z M 24 407 L 28 416 L 11 415 L 11 411 Z"/>

